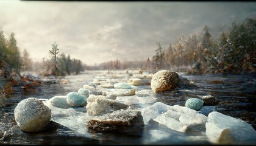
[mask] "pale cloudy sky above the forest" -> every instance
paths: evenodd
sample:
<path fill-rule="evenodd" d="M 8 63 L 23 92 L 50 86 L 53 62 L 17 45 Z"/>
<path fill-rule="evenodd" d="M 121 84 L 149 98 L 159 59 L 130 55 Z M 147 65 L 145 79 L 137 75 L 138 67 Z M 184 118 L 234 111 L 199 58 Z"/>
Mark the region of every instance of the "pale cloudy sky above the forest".
<path fill-rule="evenodd" d="M 205 25 L 217 38 L 246 18 L 256 18 L 256 2 L 0 1 L 0 28 L 7 39 L 15 33 L 21 54 L 49 59 L 56 42 L 60 54 L 87 65 L 147 60 L 158 41 L 167 49 Z"/>

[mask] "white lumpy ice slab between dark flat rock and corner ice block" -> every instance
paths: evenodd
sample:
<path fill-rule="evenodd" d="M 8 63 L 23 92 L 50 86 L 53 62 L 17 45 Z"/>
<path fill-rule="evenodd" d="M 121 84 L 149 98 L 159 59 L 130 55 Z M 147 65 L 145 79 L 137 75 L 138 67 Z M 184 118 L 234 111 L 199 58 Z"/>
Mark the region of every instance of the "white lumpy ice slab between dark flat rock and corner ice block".
<path fill-rule="evenodd" d="M 197 111 L 184 106 L 168 106 L 164 103 L 161 104 L 157 103 L 159 108 L 163 108 L 163 113 L 160 113 L 160 110 L 154 108 L 156 103 L 141 110 L 145 124 L 150 119 L 153 119 L 172 130 L 183 133 L 190 130 L 190 127 L 194 125 L 198 125 L 199 130 L 196 131 L 202 131 L 202 127 L 204 127 L 207 121 L 207 117 L 203 114 L 197 113 Z"/>

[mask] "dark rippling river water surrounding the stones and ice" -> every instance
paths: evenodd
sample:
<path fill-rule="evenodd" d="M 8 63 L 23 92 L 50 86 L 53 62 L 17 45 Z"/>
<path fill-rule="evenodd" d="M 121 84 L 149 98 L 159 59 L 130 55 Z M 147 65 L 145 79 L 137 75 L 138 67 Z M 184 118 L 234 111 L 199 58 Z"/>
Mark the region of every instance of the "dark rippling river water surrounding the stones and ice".
<path fill-rule="evenodd" d="M 62 83 L 55 83 L 54 79 L 44 79 L 48 83 L 39 86 L 35 92 L 16 92 L 2 100 L 0 107 L 0 144 L 210 144 L 205 139 L 193 139 L 189 136 L 185 139 L 183 134 L 168 130 L 160 125 L 152 124 L 144 126 L 143 130 L 134 131 L 132 134 L 120 133 L 96 133 L 88 130 L 86 135 L 77 134 L 59 123 L 51 122 L 46 130 L 41 133 L 28 134 L 20 130 L 14 119 L 14 109 L 23 99 L 35 97 L 38 99 L 50 99 L 54 96 L 63 96 L 71 91 L 78 91 L 83 85 L 93 82 L 96 75 L 103 71 L 85 71 L 79 75 L 60 78 Z M 105 71 L 106 73 L 107 71 Z M 134 71 L 137 72 L 137 71 Z M 126 74 L 119 71 L 118 74 Z M 180 77 L 188 78 L 198 87 L 180 87 L 172 91 L 160 94 L 152 93 L 157 98 L 155 102 L 163 102 L 167 105 L 185 106 L 187 99 L 212 95 L 219 99 L 218 105 L 204 106 L 201 113 L 208 116 L 212 111 L 226 114 L 227 116 L 242 119 L 250 123 L 256 129 L 256 75 L 188 75 L 179 73 Z M 123 82 L 129 79 L 124 75 L 120 79 Z M 138 86 L 138 89 L 151 89 L 150 85 Z M 153 104 L 153 103 L 152 103 Z M 4 134 L 5 133 L 5 134 Z M 166 135 L 166 133 L 171 133 Z M 4 137 L 2 137 L 4 136 Z M 2 137 L 2 139 L 1 139 Z M 155 143 L 154 143 L 155 142 Z"/>

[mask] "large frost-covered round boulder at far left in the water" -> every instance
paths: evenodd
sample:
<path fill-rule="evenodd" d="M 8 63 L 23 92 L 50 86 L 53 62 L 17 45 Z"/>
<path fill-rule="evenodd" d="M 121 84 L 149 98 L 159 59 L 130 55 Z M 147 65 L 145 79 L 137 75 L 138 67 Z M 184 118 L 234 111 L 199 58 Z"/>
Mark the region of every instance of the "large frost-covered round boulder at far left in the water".
<path fill-rule="evenodd" d="M 22 131 L 35 133 L 43 130 L 51 121 L 51 109 L 41 100 L 28 98 L 21 100 L 14 109 L 14 117 Z"/>

